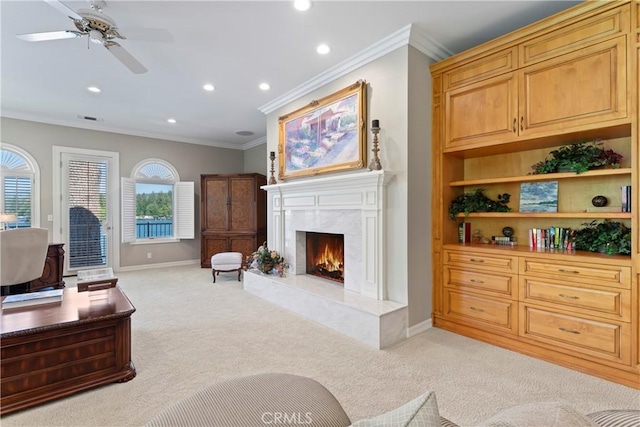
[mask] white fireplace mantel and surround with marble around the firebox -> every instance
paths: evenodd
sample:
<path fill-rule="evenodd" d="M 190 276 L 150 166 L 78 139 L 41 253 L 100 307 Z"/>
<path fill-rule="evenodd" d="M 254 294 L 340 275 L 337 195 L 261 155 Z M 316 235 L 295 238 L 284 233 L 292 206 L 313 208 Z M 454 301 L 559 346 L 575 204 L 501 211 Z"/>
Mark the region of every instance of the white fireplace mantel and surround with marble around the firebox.
<path fill-rule="evenodd" d="M 385 187 L 393 175 L 359 171 L 281 182 L 268 193 L 269 246 L 289 261 L 289 274 L 305 274 L 302 231 L 345 235 L 345 290 L 387 299 Z"/>

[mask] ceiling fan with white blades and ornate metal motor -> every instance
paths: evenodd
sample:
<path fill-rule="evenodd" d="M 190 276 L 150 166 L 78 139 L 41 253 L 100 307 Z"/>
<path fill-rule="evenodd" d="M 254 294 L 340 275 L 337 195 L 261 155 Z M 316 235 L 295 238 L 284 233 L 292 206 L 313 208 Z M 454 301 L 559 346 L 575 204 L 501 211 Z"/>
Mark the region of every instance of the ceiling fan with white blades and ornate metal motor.
<path fill-rule="evenodd" d="M 124 64 L 131 72 L 143 74 L 147 72 L 144 65 L 123 48 L 116 39 L 125 40 L 120 34 L 115 21 L 102 12 L 106 3 L 102 0 L 92 0 L 91 9 L 78 9 L 75 11 L 67 7 L 60 0 L 44 0 L 58 11 L 67 15 L 76 26 L 77 30 L 50 31 L 44 33 L 18 34 L 16 37 L 30 42 L 73 39 L 87 36 L 90 42 L 104 46 L 118 61 Z M 137 40 L 171 43 L 173 36 L 167 30 L 155 28 L 128 29 L 123 31 Z"/>

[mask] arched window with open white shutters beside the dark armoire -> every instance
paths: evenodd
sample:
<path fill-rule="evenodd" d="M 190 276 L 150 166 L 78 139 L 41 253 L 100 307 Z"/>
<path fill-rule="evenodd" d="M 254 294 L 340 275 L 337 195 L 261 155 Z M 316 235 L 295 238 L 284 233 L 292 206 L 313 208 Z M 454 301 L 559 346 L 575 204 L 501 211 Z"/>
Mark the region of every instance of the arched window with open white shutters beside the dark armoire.
<path fill-rule="evenodd" d="M 193 239 L 193 195 L 193 182 L 180 182 L 170 163 L 138 163 L 131 178 L 122 178 L 122 241 Z"/>

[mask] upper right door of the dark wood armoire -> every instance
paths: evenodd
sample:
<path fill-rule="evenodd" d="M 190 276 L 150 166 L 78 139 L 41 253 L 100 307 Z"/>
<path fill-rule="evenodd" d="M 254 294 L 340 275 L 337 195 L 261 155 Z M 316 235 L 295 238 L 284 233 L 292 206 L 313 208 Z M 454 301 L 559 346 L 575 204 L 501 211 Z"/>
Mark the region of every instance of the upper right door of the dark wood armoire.
<path fill-rule="evenodd" d="M 255 232 L 256 186 L 253 177 L 229 178 L 229 231 Z M 255 250 L 255 248 L 254 248 Z"/>

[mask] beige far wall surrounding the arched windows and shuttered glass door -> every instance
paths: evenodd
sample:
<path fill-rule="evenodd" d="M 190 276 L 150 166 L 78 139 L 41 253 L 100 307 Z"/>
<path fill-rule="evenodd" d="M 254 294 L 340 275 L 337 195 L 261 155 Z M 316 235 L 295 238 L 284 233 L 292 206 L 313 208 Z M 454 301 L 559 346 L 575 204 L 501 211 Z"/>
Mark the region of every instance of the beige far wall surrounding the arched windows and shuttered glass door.
<path fill-rule="evenodd" d="M 31 154 L 40 167 L 40 226 L 53 235 L 52 147 L 75 147 L 120 153 L 120 176 L 130 176 L 133 167 L 147 158 L 160 158 L 178 170 L 180 180 L 194 181 L 196 212 L 195 239 L 179 243 L 130 245 L 120 244 L 120 266 L 184 262 L 200 259 L 200 174 L 240 173 L 244 170 L 243 152 L 196 144 L 144 138 L 110 132 L 99 132 L 24 120 L 0 118 L 0 141 L 16 145 Z M 264 173 L 264 172 L 263 172 Z M 120 197 L 117 197 L 118 201 Z M 120 209 L 118 208 L 119 212 Z M 114 236 L 119 242 L 120 236 Z M 147 259 L 147 252 L 153 258 Z"/>

